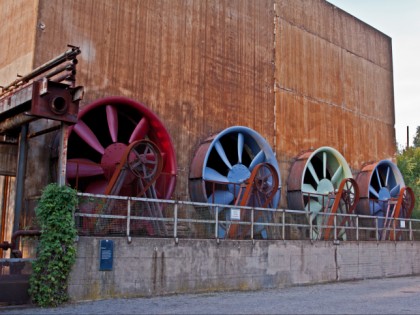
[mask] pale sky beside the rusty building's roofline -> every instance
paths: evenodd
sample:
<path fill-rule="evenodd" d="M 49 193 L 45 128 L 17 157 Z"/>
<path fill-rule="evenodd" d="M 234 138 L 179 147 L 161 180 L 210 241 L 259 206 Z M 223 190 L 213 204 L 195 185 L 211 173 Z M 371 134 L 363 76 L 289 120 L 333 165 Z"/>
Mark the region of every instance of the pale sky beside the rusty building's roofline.
<path fill-rule="evenodd" d="M 420 126 L 420 0 L 327 0 L 392 38 L 395 134 L 399 148 Z"/>

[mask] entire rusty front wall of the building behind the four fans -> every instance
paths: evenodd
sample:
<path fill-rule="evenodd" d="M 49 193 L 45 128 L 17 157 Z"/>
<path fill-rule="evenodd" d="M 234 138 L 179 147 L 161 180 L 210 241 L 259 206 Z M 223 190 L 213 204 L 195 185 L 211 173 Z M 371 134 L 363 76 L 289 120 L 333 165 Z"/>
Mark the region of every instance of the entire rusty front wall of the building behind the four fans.
<path fill-rule="evenodd" d="M 82 106 L 124 95 L 162 120 L 176 198 L 200 142 L 233 125 L 266 138 L 283 183 L 302 150 L 332 146 L 356 170 L 395 152 L 391 39 L 326 1 L 39 0 L 35 25 L 34 67 L 81 48 Z"/>

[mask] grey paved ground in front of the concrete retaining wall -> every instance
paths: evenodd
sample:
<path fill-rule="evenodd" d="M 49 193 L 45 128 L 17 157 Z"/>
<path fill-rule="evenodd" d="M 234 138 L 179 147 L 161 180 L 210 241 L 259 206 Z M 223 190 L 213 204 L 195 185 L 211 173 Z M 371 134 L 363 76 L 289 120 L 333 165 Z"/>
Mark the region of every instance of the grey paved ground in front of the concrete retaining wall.
<path fill-rule="evenodd" d="M 2 314 L 419 314 L 420 277 L 0 308 Z"/>

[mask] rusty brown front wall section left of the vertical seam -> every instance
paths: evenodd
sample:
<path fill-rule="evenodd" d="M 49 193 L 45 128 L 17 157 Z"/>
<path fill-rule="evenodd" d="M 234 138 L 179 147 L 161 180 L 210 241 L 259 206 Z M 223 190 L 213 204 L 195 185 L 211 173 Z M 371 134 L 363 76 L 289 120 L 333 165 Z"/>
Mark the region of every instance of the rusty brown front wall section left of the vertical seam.
<path fill-rule="evenodd" d="M 273 14 L 269 0 L 40 1 L 35 61 L 78 45 L 83 104 L 124 95 L 149 106 L 172 136 L 186 199 L 210 134 L 244 125 L 274 144 Z"/>

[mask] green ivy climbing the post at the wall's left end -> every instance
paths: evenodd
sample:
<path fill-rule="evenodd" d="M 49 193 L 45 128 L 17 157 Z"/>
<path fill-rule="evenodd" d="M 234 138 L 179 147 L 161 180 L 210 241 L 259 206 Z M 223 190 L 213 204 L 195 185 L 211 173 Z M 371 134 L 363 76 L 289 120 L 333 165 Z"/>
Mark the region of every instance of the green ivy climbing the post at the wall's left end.
<path fill-rule="evenodd" d="M 39 306 L 57 306 L 68 299 L 67 280 L 76 259 L 77 230 L 73 219 L 76 203 L 74 189 L 49 184 L 35 209 L 42 235 L 29 292 Z"/>

